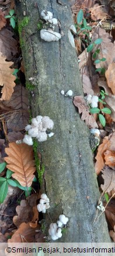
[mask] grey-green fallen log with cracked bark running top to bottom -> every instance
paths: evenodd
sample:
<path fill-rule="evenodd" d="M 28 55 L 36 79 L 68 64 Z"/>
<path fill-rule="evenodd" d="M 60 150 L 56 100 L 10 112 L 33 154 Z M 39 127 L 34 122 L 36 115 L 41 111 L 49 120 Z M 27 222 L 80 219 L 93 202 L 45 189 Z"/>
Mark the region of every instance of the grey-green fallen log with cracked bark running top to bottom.
<path fill-rule="evenodd" d="M 61 23 L 64 36 L 59 41 L 40 39 L 37 30 L 43 9 L 53 13 Z M 28 22 L 23 21 L 28 17 Z M 43 192 L 50 198 L 48 210 L 52 222 L 64 214 L 69 218 L 67 232 L 58 242 L 110 242 L 104 214 L 93 223 L 100 198 L 93 155 L 89 145 L 89 129 L 82 122 L 72 99 L 60 91 L 72 89 L 83 95 L 75 49 L 68 39 L 74 24 L 68 0 L 16 1 L 20 43 L 25 66 L 26 83 L 34 78 L 29 90 L 32 115 L 49 116 L 54 121 L 54 136 L 39 143 L 45 167 Z M 57 29 L 58 32 L 58 29 Z M 51 220 L 46 213 L 46 227 Z"/>

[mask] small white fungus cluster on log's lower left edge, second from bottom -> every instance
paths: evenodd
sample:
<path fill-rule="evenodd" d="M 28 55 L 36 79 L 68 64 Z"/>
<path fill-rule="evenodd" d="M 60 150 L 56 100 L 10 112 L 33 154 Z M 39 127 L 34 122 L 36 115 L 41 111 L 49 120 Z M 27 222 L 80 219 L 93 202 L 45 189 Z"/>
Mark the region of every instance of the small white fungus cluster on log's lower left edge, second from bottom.
<path fill-rule="evenodd" d="M 46 210 L 50 208 L 49 205 L 50 200 L 48 199 L 46 194 L 41 195 L 40 203 L 37 205 L 38 212 L 46 213 Z"/>

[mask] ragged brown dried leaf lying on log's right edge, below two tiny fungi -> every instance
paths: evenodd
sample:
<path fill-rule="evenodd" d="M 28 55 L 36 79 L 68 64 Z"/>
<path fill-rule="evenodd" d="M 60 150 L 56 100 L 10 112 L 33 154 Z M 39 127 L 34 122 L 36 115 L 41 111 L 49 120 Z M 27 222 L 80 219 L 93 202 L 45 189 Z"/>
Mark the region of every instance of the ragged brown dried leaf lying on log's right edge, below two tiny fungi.
<path fill-rule="evenodd" d="M 82 113 L 81 120 L 85 121 L 86 125 L 89 128 L 97 128 L 98 125 L 94 119 L 94 117 L 90 114 L 89 108 L 86 105 L 85 99 L 83 96 L 75 96 L 74 97 L 74 105 L 78 108 L 79 114 Z"/>

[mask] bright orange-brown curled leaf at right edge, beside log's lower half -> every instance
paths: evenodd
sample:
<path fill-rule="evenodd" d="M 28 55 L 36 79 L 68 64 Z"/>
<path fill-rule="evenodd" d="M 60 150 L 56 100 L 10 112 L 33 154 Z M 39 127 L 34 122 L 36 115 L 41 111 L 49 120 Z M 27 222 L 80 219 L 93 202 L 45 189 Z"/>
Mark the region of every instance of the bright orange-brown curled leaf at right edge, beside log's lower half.
<path fill-rule="evenodd" d="M 107 158 L 107 154 L 106 151 L 115 151 L 115 132 L 113 134 L 110 134 L 109 137 L 104 137 L 103 139 L 103 143 L 99 145 L 98 149 L 97 149 L 97 155 L 96 155 L 96 164 L 95 164 L 95 171 L 96 174 L 98 175 L 100 173 L 100 171 L 102 170 L 102 168 L 104 167 L 105 161 L 109 162 L 109 164 L 112 165 L 112 159 L 110 162 L 110 155 L 108 155 Z M 106 154 L 106 160 L 105 160 L 105 154 Z"/>

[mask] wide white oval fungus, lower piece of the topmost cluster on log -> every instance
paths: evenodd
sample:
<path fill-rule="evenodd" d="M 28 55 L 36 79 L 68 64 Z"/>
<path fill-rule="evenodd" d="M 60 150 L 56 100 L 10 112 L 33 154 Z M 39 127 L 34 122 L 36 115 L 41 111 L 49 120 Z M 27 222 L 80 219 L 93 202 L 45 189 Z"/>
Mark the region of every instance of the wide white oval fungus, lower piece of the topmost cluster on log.
<path fill-rule="evenodd" d="M 40 37 L 44 41 L 58 41 L 61 39 L 61 34 L 54 32 L 51 28 L 48 28 L 40 30 Z"/>

